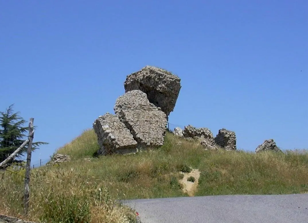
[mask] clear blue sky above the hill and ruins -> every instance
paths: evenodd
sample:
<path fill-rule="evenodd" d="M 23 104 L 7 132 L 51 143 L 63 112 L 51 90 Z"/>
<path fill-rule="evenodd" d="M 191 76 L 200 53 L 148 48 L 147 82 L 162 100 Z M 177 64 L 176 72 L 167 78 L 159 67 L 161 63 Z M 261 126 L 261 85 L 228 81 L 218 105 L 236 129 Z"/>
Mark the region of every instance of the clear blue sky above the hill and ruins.
<path fill-rule="evenodd" d="M 113 113 L 128 74 L 167 69 L 182 88 L 170 127 L 308 148 L 307 1 L 0 0 L 0 110 L 50 142 L 32 164 Z M 176 125 L 174 125 L 176 124 Z M 86 148 L 85 148 L 86 149 Z"/>

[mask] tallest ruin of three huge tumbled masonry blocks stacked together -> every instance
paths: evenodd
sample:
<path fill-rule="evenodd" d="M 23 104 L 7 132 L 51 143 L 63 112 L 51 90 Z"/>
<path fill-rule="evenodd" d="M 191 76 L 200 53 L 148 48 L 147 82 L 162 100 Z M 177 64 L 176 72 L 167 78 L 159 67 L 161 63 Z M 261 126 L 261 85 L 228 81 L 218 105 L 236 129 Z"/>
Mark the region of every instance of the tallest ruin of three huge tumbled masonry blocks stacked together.
<path fill-rule="evenodd" d="M 146 66 L 128 75 L 125 93 L 115 101 L 115 114 L 106 113 L 93 123 L 98 155 L 162 146 L 180 88 L 180 78 L 160 68 Z"/>

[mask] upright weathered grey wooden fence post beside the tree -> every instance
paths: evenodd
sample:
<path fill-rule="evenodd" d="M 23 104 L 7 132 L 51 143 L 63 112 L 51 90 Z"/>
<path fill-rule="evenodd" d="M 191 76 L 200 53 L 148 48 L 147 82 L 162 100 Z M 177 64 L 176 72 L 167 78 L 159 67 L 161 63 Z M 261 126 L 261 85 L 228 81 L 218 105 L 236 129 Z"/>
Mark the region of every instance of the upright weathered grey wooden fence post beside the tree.
<path fill-rule="evenodd" d="M 27 164 L 26 164 L 26 176 L 25 176 L 25 194 L 24 194 L 24 210 L 25 215 L 28 214 L 28 206 L 29 206 L 29 182 L 30 182 L 30 169 L 31 169 L 31 150 L 32 150 L 32 141 L 34 137 L 34 130 L 33 130 L 33 121 L 34 118 L 30 118 L 29 122 L 29 136 L 28 136 L 28 151 L 27 151 Z"/>

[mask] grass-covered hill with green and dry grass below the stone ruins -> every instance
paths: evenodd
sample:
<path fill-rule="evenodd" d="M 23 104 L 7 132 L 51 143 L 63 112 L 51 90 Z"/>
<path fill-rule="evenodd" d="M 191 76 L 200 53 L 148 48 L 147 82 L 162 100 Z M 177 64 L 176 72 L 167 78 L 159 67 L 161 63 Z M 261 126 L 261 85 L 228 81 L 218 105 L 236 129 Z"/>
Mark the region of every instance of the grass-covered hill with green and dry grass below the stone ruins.
<path fill-rule="evenodd" d="M 115 200 L 188 196 L 178 180 L 190 168 L 201 171 L 195 196 L 308 192 L 306 151 L 206 151 L 171 133 L 152 151 L 95 158 L 97 150 L 96 135 L 88 130 L 57 151 L 71 161 L 32 170 L 27 219 L 136 222 L 135 211 Z M 24 170 L 10 171 L 24 176 Z M 22 216 L 23 178 L 5 171 L 0 180 L 0 213 Z"/>

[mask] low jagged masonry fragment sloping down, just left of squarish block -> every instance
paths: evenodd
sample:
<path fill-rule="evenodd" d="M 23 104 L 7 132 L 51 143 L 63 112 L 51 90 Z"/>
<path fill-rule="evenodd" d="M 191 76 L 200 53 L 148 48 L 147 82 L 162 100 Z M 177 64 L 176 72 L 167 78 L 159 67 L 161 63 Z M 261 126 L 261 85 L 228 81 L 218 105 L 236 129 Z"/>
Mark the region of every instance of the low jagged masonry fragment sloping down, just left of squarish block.
<path fill-rule="evenodd" d="M 213 133 L 208 128 L 195 128 L 191 125 L 185 126 L 183 135 L 186 138 L 197 138 L 206 149 L 217 149 Z"/>

